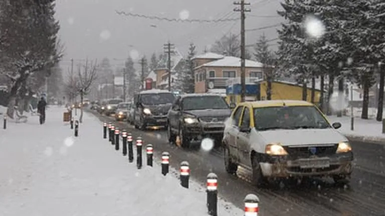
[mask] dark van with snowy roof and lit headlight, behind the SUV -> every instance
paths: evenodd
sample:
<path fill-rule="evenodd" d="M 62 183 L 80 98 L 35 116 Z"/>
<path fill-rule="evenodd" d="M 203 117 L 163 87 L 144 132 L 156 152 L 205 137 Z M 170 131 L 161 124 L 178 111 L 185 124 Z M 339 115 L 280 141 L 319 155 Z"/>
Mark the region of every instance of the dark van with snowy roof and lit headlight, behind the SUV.
<path fill-rule="evenodd" d="M 134 95 L 134 125 L 141 130 L 148 126 L 167 126 L 167 114 L 175 96 L 168 90 L 143 90 Z"/>

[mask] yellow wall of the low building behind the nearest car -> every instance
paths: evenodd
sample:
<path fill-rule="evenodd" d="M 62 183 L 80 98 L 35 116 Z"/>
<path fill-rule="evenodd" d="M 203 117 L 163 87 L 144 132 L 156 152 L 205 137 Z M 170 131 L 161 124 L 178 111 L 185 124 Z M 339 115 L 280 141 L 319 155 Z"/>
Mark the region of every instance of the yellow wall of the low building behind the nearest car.
<path fill-rule="evenodd" d="M 261 99 L 266 99 L 267 82 L 261 82 Z M 271 99 L 293 99 L 302 100 L 302 86 L 291 85 L 281 82 L 272 83 Z M 320 90 L 315 90 L 314 103 L 319 102 Z M 307 101 L 311 102 L 311 88 L 307 89 Z"/>

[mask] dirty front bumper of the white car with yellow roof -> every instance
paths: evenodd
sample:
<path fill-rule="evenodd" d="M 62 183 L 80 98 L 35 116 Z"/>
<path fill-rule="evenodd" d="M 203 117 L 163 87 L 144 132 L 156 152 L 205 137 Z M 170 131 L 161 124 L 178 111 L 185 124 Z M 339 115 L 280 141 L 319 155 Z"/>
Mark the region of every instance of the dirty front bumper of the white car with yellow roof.
<path fill-rule="evenodd" d="M 260 162 L 260 165 L 263 175 L 267 177 L 350 175 L 352 172 L 352 152 L 293 160 L 287 156 L 263 155 L 263 162 Z M 316 166 L 309 165 L 309 161 L 314 162 L 316 160 L 328 162 Z"/>

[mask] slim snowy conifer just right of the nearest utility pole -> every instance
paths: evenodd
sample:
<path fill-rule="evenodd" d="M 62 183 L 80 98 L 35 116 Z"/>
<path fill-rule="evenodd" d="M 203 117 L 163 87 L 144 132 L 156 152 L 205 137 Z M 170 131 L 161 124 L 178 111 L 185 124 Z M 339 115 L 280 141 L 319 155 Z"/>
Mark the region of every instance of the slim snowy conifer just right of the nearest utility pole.
<path fill-rule="evenodd" d="M 267 42 L 268 40 L 265 33 L 263 33 L 254 46 L 254 56 L 257 61 L 263 64 L 262 71 L 267 81 L 266 99 L 271 100 L 272 81 L 277 76 L 277 70 L 273 68 L 276 59 L 273 52 L 269 49 L 269 44 Z"/>

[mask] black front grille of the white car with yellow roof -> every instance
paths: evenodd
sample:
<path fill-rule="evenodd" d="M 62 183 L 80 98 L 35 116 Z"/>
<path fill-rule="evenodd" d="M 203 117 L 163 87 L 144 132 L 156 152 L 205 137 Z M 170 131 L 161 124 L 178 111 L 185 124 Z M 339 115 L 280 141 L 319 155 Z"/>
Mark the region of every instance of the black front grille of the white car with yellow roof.
<path fill-rule="evenodd" d="M 338 144 L 329 145 L 329 146 L 315 146 L 315 153 L 310 151 L 309 147 L 297 147 L 297 146 L 284 146 L 285 150 L 290 157 L 295 158 L 308 158 L 313 155 L 317 156 L 327 156 L 335 154 Z"/>

